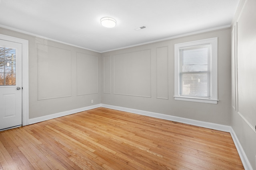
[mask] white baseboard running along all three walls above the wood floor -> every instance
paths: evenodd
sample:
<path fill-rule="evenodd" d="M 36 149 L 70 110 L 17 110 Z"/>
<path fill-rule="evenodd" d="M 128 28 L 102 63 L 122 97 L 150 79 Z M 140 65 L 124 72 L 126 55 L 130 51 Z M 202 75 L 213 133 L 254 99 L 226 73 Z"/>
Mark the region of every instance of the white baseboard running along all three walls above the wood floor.
<path fill-rule="evenodd" d="M 199 126 L 199 127 L 205 127 L 208 129 L 229 132 L 232 136 L 232 139 L 234 141 L 234 144 L 236 146 L 238 154 L 241 158 L 242 164 L 244 165 L 244 169 L 245 170 L 253 170 L 252 166 L 242 148 L 242 145 L 240 144 L 238 138 L 236 137 L 236 133 L 234 132 L 234 130 L 232 129 L 231 126 L 220 125 L 220 124 L 216 124 L 216 123 L 209 123 L 209 122 L 204 122 L 204 121 L 197 121 L 197 120 L 193 120 L 193 119 L 186 119 L 186 118 L 182 118 L 182 117 L 165 115 L 165 114 L 161 114 L 161 113 L 154 113 L 154 112 L 150 112 L 150 111 L 143 111 L 143 110 L 137 110 L 137 109 L 130 109 L 130 108 L 126 108 L 126 107 L 112 106 L 112 105 L 107 105 L 107 104 L 97 104 L 97 105 L 93 105 L 93 106 L 82 107 L 79 109 L 63 111 L 63 112 L 55 113 L 52 115 L 46 115 L 46 116 L 37 117 L 34 119 L 29 119 L 29 124 L 38 123 L 41 121 L 46 121 L 46 120 L 50 120 L 50 119 L 54 119 L 54 118 L 62 117 L 62 116 L 66 116 L 66 115 L 71 115 L 74 113 L 78 113 L 78 112 L 86 111 L 86 110 L 90 110 L 90 109 L 95 109 L 98 107 L 105 107 L 105 108 L 114 109 L 114 110 L 126 111 L 126 112 L 130 112 L 130 113 L 135 113 L 138 115 L 145 115 L 145 116 L 155 117 L 155 118 L 159 118 L 159 119 L 165 119 L 165 120 L 176 121 L 176 122 L 180 122 L 180 123 L 186 123 L 188 125 L 195 125 L 195 126 Z"/>

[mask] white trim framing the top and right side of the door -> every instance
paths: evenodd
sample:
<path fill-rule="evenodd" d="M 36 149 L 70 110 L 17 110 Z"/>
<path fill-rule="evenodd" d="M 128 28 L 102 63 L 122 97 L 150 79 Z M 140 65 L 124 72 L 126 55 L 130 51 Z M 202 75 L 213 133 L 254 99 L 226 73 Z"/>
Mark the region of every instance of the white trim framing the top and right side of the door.
<path fill-rule="evenodd" d="M 22 44 L 22 126 L 28 125 L 28 40 L 0 34 L 0 39 Z"/>

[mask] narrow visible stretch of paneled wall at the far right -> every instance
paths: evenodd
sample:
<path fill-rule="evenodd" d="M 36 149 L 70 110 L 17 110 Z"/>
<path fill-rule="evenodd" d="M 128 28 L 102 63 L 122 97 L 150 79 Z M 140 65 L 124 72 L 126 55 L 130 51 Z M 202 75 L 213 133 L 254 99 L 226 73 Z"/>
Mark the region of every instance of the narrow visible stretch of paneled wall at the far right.
<path fill-rule="evenodd" d="M 255 7 L 255 0 L 241 0 L 232 25 L 232 39 L 234 41 L 237 35 L 237 41 L 232 43 L 234 55 L 232 55 L 231 125 L 253 169 L 256 169 Z"/>

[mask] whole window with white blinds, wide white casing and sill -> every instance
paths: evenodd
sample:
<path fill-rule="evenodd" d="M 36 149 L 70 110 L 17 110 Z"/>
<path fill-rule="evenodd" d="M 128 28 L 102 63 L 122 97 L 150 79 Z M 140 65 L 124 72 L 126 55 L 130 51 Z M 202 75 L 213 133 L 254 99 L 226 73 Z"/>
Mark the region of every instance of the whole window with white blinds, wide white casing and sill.
<path fill-rule="evenodd" d="M 174 45 L 174 99 L 217 104 L 217 38 Z"/>

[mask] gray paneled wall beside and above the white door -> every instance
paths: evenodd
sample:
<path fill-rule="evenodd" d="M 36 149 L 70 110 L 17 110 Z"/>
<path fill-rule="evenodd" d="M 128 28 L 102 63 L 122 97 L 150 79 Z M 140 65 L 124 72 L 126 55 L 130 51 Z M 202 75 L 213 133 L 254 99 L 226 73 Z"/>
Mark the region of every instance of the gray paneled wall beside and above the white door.
<path fill-rule="evenodd" d="M 4 28 L 0 33 L 29 42 L 29 119 L 101 103 L 100 53 Z"/>

